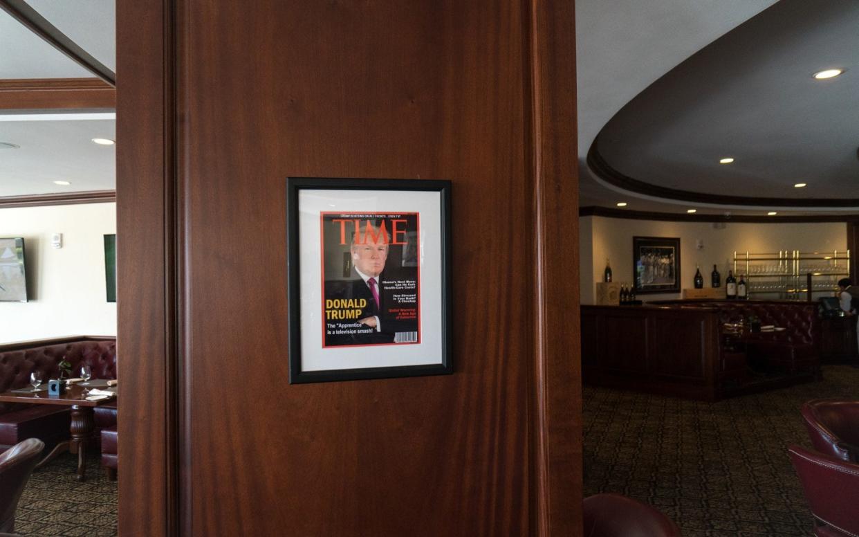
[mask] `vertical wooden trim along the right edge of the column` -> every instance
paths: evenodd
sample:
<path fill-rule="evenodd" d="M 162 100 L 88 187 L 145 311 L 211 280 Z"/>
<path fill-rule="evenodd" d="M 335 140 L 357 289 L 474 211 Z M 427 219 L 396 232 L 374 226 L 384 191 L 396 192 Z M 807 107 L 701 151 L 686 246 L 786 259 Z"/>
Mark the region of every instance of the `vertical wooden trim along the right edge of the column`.
<path fill-rule="evenodd" d="M 576 23 L 571 2 L 532 0 L 533 534 L 582 532 Z M 573 270 L 570 270 L 573 267 Z"/>

